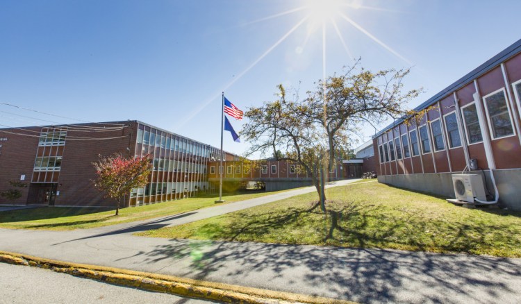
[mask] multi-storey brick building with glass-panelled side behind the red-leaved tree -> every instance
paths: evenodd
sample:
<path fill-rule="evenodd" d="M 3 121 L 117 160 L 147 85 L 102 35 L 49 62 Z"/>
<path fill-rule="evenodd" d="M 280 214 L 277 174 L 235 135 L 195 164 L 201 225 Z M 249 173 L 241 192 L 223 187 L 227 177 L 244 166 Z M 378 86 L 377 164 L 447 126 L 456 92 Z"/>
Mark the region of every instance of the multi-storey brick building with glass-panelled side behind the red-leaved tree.
<path fill-rule="evenodd" d="M 93 187 L 98 155 L 150 153 L 154 169 L 146 187 L 135 189 L 125 206 L 195 196 L 208 189 L 207 163 L 218 160 L 213 146 L 140 121 L 0 129 L 0 192 L 25 183 L 22 197 L 2 205 L 111 207 Z M 226 160 L 236 156 L 226 153 Z"/>

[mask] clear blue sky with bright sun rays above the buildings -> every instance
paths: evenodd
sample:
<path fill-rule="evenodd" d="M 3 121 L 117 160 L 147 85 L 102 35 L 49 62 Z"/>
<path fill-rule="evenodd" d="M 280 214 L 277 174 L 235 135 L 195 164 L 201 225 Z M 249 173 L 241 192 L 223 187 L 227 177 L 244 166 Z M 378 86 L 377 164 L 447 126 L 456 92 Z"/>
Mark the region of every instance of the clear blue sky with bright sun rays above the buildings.
<path fill-rule="evenodd" d="M 424 87 L 425 93 L 411 107 L 521 38 L 521 1 L 341 2 L 347 6 L 333 20 L 364 67 L 413 67 L 406 89 Z M 279 83 L 304 96 L 322 78 L 315 10 L 283 14 L 309 3 L 4 0 L 0 102 L 82 121 L 138 119 L 219 146 L 222 90 L 245 110 L 273 100 Z M 350 64 L 328 19 L 326 74 Z M 57 119 L 5 105 L 0 111 L 0 124 L 8 126 L 45 123 L 5 112 Z M 231 124 L 240 130 L 242 122 Z M 360 142 L 374 134 L 363 128 Z M 227 151 L 247 146 L 224 135 Z"/>

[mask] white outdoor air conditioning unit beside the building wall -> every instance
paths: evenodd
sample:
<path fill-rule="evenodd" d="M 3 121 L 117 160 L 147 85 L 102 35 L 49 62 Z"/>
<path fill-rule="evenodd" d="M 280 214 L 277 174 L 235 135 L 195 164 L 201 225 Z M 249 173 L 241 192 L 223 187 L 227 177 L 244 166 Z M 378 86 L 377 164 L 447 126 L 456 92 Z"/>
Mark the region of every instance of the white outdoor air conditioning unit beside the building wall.
<path fill-rule="evenodd" d="M 474 199 L 486 201 L 483 178 L 478 174 L 452 174 L 454 194 L 458 201 L 474 203 Z"/>

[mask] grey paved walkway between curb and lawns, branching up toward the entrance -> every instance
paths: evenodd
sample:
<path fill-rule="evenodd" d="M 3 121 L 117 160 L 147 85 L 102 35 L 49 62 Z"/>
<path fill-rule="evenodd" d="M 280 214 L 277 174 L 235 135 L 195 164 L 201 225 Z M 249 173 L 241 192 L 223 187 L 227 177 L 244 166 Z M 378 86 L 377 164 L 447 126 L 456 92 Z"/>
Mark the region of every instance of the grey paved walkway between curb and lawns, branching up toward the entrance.
<path fill-rule="evenodd" d="M 521 298 L 521 259 L 131 234 L 197 220 L 205 210 L 210 210 L 207 216 L 231 212 L 240 205 L 220 205 L 132 226 L 64 232 L 4 229 L 0 250 L 364 303 L 518 303 Z"/>

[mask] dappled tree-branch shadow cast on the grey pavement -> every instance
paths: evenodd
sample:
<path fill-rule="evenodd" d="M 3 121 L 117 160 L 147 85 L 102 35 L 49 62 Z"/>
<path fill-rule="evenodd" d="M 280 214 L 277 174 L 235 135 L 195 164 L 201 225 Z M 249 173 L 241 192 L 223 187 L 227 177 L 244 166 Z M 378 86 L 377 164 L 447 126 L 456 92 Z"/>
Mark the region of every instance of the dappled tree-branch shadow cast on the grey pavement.
<path fill-rule="evenodd" d="M 486 303 L 475 294 L 477 290 L 490 298 L 515 298 L 516 293 L 489 276 L 521 276 L 520 265 L 506 258 L 379 249 L 313 250 L 312 246 L 172 240 L 172 244 L 139 255 L 146 263 L 188 258 L 190 269 L 181 275 L 197 280 L 219 273 L 244 278 L 245 285 L 249 280 L 261 288 L 284 286 L 290 292 L 362 303 L 461 303 L 454 294 Z M 256 275 L 264 281 L 257 281 Z M 278 280 L 288 283 L 276 285 Z M 409 296 L 404 298 L 404 294 Z"/>

